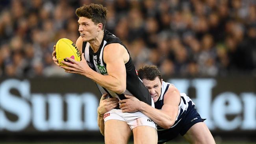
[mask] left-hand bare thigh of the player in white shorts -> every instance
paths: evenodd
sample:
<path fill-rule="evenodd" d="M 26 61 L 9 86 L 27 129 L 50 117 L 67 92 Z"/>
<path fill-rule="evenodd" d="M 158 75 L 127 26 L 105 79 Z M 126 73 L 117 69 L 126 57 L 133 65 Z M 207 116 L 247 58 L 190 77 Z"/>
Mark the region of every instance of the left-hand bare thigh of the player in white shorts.
<path fill-rule="evenodd" d="M 107 120 L 105 122 L 105 144 L 127 144 L 132 130 L 121 120 Z"/>

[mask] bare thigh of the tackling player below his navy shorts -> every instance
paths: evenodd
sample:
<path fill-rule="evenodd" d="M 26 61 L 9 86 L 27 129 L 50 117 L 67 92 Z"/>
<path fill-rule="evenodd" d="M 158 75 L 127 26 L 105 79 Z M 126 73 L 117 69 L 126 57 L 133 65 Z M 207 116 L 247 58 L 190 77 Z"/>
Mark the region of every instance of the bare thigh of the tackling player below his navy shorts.
<path fill-rule="evenodd" d="M 183 137 L 191 144 L 215 144 L 211 132 L 204 122 L 194 124 Z"/>

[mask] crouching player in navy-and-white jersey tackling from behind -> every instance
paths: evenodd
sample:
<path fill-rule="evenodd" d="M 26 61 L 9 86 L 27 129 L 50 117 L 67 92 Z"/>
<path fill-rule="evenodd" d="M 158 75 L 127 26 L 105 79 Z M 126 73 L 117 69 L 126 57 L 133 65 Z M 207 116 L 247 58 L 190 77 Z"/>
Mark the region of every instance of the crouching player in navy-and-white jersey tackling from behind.
<path fill-rule="evenodd" d="M 141 111 L 156 122 L 158 144 L 177 137 L 179 133 L 191 144 L 215 144 L 204 119 L 197 113 L 195 104 L 173 84 L 163 81 L 156 66 L 144 66 L 138 70 L 138 74 L 148 88 L 156 109 L 135 97 L 125 95 L 128 99 L 119 101 L 122 112 Z M 118 105 L 114 100 L 104 100 L 105 96 L 100 100 L 98 113 L 111 109 L 111 105 Z M 111 104 L 108 105 L 109 103 Z"/>

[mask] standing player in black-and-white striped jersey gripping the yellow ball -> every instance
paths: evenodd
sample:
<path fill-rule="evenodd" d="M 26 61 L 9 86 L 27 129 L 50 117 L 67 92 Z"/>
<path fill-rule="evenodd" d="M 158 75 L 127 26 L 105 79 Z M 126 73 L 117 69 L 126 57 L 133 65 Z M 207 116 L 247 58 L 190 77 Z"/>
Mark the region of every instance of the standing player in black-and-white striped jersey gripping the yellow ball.
<path fill-rule="evenodd" d="M 118 100 L 124 100 L 124 94 L 134 95 L 137 99 L 152 105 L 152 98 L 136 74 L 130 54 L 118 37 L 104 30 L 106 7 L 98 4 L 83 5 L 76 9 L 80 37 L 76 41 L 82 52 L 82 60 L 72 63 L 62 61 L 65 72 L 81 74 L 96 82 L 102 94 Z M 54 63 L 59 66 L 52 53 Z M 84 84 L 82 84 L 84 85 Z M 118 108 L 118 107 L 117 107 Z M 141 112 L 122 113 L 121 109 L 112 109 L 106 114 L 98 114 L 99 125 L 105 123 L 106 144 L 126 144 L 133 133 L 135 144 L 156 144 L 156 124 Z M 150 121 L 148 121 L 150 120 Z"/>

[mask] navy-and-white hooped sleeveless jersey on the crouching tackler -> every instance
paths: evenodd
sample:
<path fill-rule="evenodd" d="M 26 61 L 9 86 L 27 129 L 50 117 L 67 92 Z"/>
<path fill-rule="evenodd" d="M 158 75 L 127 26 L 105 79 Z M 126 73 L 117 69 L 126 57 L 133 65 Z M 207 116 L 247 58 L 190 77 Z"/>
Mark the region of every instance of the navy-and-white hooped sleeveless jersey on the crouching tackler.
<path fill-rule="evenodd" d="M 164 95 L 167 92 L 170 85 L 173 85 L 173 84 L 163 81 L 162 86 L 161 86 L 161 95 L 160 95 L 158 101 L 155 102 L 156 109 L 162 109 L 163 98 L 164 98 Z M 175 127 L 178 124 L 178 122 L 180 122 L 182 117 L 186 114 L 187 109 L 191 105 L 195 105 L 195 103 L 193 103 L 192 100 L 185 93 L 180 93 L 180 104 L 179 104 L 179 109 L 178 109 L 178 116 L 176 117 L 176 120 L 172 127 Z M 172 127 L 170 127 L 170 128 L 172 128 Z M 164 130 L 164 129 L 162 127 L 158 126 L 158 131 L 161 131 L 161 130 Z"/>

